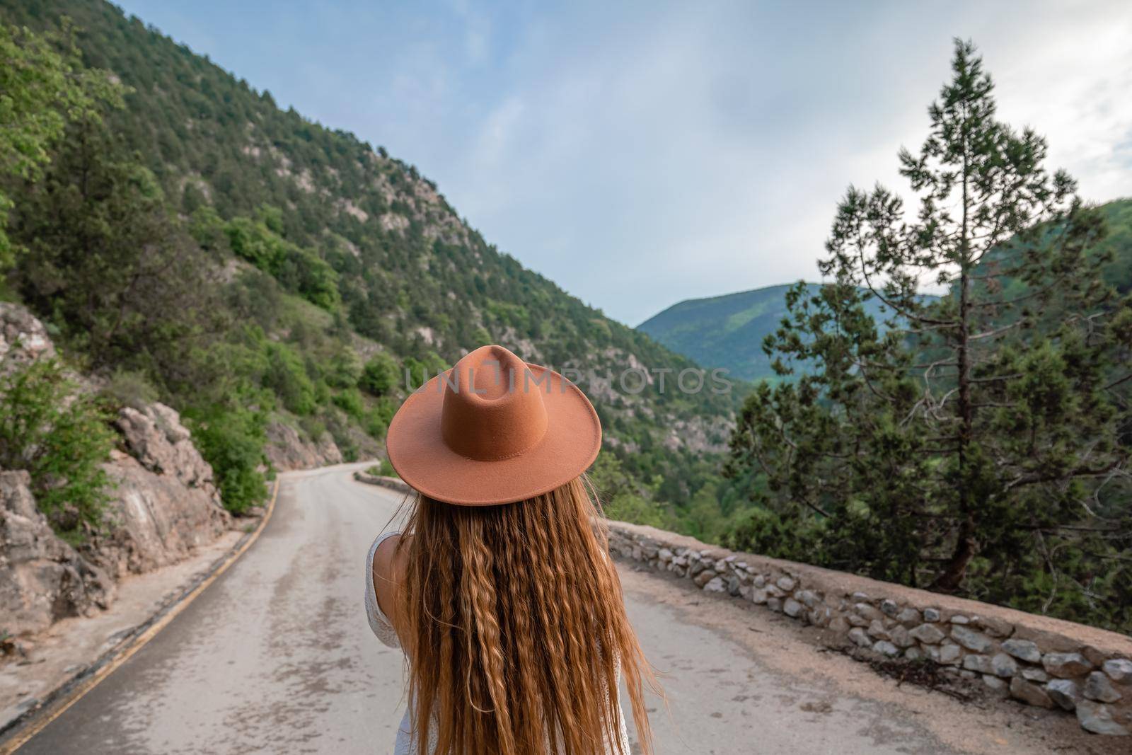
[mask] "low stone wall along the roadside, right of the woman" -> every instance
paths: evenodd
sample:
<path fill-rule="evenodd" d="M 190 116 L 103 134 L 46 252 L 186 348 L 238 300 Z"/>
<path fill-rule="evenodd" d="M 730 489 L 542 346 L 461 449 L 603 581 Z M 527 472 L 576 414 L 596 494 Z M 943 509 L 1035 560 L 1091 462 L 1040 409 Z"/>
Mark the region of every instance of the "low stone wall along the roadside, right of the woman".
<path fill-rule="evenodd" d="M 1132 732 L 1132 638 L 1071 621 L 609 523 L 615 556 L 823 627 L 846 643 L 932 662 L 992 694 L 1075 713 L 1095 733 Z"/>

